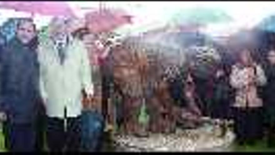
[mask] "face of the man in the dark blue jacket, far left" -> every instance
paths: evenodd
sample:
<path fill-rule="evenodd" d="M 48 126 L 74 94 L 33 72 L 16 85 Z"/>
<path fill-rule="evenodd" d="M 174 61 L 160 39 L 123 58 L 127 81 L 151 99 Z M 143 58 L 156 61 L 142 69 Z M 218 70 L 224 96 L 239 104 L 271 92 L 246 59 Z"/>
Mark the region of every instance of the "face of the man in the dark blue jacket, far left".
<path fill-rule="evenodd" d="M 22 19 L 17 24 L 17 38 L 23 43 L 28 44 L 36 36 L 36 27 L 30 18 Z"/>

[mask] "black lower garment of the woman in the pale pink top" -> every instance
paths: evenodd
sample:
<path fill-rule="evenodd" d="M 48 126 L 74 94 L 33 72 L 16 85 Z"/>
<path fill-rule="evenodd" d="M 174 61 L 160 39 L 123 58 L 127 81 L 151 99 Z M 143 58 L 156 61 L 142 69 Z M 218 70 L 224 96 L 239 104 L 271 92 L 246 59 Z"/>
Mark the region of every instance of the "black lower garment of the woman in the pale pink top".
<path fill-rule="evenodd" d="M 233 108 L 234 132 L 238 141 L 261 139 L 263 135 L 262 108 Z"/>

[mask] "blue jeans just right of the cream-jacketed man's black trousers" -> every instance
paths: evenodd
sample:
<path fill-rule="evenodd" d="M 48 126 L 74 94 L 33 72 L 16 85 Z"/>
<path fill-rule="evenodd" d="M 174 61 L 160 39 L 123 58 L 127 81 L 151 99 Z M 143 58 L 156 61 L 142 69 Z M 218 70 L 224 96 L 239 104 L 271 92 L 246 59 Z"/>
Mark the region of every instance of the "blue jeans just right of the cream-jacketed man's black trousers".
<path fill-rule="evenodd" d="M 83 111 L 82 123 L 82 149 L 87 152 L 99 151 L 102 144 L 104 130 L 103 116 L 94 111 Z"/>

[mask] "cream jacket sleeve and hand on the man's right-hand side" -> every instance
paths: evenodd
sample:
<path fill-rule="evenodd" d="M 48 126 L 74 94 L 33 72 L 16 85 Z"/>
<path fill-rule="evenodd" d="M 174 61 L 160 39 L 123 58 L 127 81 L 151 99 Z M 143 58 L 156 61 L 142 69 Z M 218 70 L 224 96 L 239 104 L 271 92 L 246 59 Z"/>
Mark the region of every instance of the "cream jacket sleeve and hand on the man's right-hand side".
<path fill-rule="evenodd" d="M 89 63 L 88 51 L 84 44 L 79 41 L 79 53 L 81 54 L 80 76 L 82 88 L 85 89 L 89 95 L 94 94 L 94 86 L 92 82 L 92 68 Z M 81 52 L 80 52 L 81 51 Z"/>

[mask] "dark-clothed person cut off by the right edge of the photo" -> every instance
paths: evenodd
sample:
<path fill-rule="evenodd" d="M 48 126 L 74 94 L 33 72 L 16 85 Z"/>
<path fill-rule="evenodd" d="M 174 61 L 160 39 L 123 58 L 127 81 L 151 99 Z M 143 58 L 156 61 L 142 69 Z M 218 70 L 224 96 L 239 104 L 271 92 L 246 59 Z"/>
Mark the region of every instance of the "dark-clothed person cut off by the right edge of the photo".
<path fill-rule="evenodd" d="M 268 85 L 264 87 L 264 107 L 268 129 L 268 145 L 275 146 L 275 50 L 267 53 L 267 61 L 264 63 L 264 71 Z"/>

